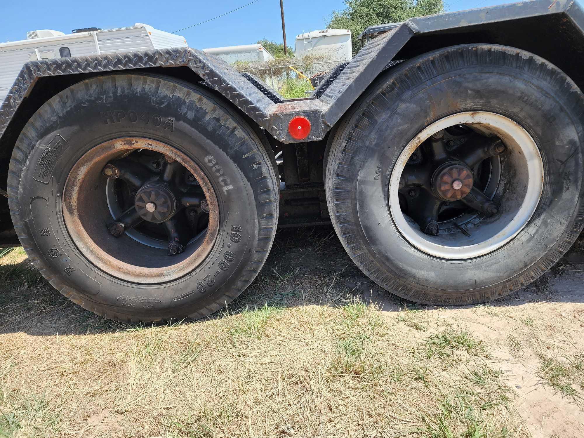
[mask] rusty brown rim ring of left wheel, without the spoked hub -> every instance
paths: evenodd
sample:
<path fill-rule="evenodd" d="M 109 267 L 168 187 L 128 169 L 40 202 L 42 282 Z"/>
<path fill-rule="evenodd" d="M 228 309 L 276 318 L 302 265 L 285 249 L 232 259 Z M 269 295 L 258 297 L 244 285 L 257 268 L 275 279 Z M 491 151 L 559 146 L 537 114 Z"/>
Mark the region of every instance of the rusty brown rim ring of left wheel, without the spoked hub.
<path fill-rule="evenodd" d="M 113 245 L 106 241 L 106 238 L 114 238 L 111 235 L 107 237 L 106 227 L 99 226 L 96 220 L 91 217 L 93 215 L 92 209 L 87 207 L 88 204 L 96 202 L 94 199 L 99 198 L 100 193 L 99 191 L 96 193 L 96 187 L 99 185 L 100 176 L 103 176 L 102 169 L 107 162 L 113 158 L 123 157 L 133 150 L 141 149 L 164 154 L 183 165 L 199 182 L 208 206 L 208 227 L 204 232 L 204 238 L 201 237 L 202 242 L 198 246 L 193 246 L 192 251 L 185 251 L 178 259 L 161 255 L 159 260 L 164 266 L 137 266 L 121 260 L 123 255 L 119 255 L 117 258 L 112 255 L 114 251 L 104 251 L 103 245 L 98 244 L 100 239 L 102 242 Z M 62 212 L 69 236 L 79 251 L 93 265 L 118 279 L 137 283 L 164 283 L 192 272 L 204 262 L 211 252 L 219 231 L 217 196 L 215 196 L 210 181 L 199 166 L 170 145 L 141 137 L 124 137 L 105 141 L 86 152 L 69 172 L 62 193 Z M 143 264 L 148 265 L 149 263 Z"/>

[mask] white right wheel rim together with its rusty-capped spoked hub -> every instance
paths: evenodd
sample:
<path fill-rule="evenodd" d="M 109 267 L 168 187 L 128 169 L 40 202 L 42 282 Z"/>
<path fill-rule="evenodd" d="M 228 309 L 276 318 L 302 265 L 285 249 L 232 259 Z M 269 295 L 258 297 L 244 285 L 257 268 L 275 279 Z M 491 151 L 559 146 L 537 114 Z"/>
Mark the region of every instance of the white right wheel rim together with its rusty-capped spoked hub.
<path fill-rule="evenodd" d="M 389 208 L 419 251 L 471 259 L 526 227 L 543 185 L 541 154 L 522 126 L 501 114 L 463 112 L 430 124 L 406 145 L 390 175 Z"/>

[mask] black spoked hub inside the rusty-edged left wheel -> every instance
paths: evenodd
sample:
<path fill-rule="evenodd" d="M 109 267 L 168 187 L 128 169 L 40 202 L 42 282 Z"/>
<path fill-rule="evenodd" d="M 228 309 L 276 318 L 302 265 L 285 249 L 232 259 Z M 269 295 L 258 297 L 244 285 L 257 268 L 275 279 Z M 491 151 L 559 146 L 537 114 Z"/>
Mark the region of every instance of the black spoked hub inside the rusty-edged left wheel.
<path fill-rule="evenodd" d="M 108 162 L 102 175 L 117 187 L 110 201 L 119 204 L 118 213 L 112 213 L 116 218 L 107 224 L 113 237 L 131 233 L 161 248 L 166 235 L 168 255 L 176 255 L 207 228 L 210 211 L 203 188 L 175 159 L 134 152 Z"/>

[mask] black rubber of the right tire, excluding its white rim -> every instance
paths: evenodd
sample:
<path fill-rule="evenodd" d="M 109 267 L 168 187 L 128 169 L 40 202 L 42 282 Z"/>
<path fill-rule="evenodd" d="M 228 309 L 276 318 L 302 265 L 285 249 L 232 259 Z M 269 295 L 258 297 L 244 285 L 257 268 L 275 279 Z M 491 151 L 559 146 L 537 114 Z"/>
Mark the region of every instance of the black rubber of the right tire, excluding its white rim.
<path fill-rule="evenodd" d="M 516 48 L 443 48 L 384 73 L 340 122 L 326 165 L 328 207 L 347 253 L 381 287 L 416 303 L 482 303 L 531 283 L 584 225 L 583 109 L 571 79 Z M 449 260 L 402 237 L 390 213 L 388 179 L 415 135 L 465 111 L 502 114 L 522 126 L 543 159 L 544 185 L 515 238 L 486 255 Z"/>

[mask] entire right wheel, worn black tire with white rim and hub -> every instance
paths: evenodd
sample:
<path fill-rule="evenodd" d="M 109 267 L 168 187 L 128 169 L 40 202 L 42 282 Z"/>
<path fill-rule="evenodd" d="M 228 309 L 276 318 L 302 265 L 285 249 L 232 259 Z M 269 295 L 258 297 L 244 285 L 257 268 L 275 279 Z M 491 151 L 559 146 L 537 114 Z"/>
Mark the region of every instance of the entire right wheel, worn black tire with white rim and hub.
<path fill-rule="evenodd" d="M 403 62 L 341 121 L 325 188 L 347 253 L 416 303 L 503 297 L 584 225 L 584 99 L 557 67 L 466 44 Z"/>

